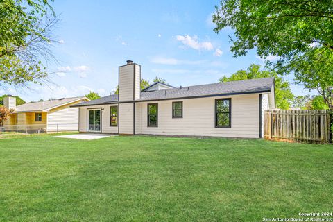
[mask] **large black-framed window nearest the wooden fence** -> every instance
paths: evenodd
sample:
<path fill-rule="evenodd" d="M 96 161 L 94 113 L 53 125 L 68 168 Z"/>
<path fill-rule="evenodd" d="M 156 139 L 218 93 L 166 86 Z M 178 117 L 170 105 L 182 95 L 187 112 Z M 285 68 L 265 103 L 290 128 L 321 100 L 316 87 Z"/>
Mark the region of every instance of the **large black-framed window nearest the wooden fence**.
<path fill-rule="evenodd" d="M 215 127 L 231 127 L 231 99 L 215 100 Z"/>

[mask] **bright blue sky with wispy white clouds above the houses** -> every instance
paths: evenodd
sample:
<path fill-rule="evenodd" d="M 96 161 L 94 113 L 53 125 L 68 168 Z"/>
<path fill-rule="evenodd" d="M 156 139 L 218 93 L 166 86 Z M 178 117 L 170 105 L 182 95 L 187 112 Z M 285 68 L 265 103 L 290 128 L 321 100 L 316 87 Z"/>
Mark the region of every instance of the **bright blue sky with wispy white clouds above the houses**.
<path fill-rule="evenodd" d="M 264 65 L 254 50 L 233 57 L 229 36 L 234 37 L 234 31 L 213 31 L 215 5 L 219 1 L 55 0 L 52 6 L 60 22 L 53 32 L 58 44 L 51 46 L 58 62 L 47 65 L 54 72 L 51 83 L 8 87 L 0 94 L 18 95 L 27 102 L 89 91 L 108 96 L 126 60 L 141 65 L 142 78 L 151 83 L 158 76 L 175 87 L 217 83 L 251 63 Z M 300 86 L 292 90 L 305 94 Z"/>

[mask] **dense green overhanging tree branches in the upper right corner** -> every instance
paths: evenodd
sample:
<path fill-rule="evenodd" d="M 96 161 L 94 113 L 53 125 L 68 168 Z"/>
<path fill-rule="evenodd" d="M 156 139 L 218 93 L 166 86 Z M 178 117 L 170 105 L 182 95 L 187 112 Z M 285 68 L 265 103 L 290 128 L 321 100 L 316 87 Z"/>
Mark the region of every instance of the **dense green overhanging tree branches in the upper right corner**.
<path fill-rule="evenodd" d="M 296 83 L 314 89 L 333 108 L 332 0 L 223 0 L 216 6 L 214 31 L 235 30 L 231 51 L 244 56 L 250 49 L 279 74 L 295 74 Z"/>

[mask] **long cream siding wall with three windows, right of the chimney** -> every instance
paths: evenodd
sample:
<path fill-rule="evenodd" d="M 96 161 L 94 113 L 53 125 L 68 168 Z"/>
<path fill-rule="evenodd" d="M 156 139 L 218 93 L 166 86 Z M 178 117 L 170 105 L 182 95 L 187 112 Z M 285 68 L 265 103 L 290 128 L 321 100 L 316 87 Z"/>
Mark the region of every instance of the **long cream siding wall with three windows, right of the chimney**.
<path fill-rule="evenodd" d="M 215 128 L 215 99 L 219 98 L 231 98 L 231 128 Z M 182 119 L 172 118 L 174 101 L 183 101 Z M 137 134 L 259 137 L 259 94 L 148 103 L 158 103 L 158 127 L 147 127 L 147 103 L 139 103 Z"/>

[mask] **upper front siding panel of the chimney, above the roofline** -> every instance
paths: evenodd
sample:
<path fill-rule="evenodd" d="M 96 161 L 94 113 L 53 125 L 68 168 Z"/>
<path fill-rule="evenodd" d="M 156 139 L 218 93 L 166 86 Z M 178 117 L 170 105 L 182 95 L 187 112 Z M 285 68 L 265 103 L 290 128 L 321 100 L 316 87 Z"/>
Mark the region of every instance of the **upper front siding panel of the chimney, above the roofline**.
<path fill-rule="evenodd" d="M 119 67 L 119 101 L 133 101 L 134 65 Z"/>

